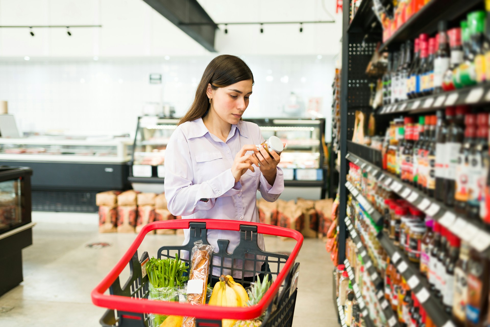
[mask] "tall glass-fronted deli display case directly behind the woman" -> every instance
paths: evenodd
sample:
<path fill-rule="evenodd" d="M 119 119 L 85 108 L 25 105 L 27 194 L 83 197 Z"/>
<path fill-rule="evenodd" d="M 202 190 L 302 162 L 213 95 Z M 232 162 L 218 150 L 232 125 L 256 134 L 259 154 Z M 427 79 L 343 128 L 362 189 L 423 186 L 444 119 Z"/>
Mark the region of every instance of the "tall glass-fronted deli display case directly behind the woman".
<path fill-rule="evenodd" d="M 147 116 L 138 119 L 128 177 L 134 189 L 164 191 L 165 149 L 178 121 Z M 286 143 L 279 164 L 286 187 L 320 187 L 321 198 L 325 198 L 325 119 L 252 118 L 245 121 L 257 124 L 265 139 L 275 135 Z M 154 185 L 148 185 L 150 183 Z"/>

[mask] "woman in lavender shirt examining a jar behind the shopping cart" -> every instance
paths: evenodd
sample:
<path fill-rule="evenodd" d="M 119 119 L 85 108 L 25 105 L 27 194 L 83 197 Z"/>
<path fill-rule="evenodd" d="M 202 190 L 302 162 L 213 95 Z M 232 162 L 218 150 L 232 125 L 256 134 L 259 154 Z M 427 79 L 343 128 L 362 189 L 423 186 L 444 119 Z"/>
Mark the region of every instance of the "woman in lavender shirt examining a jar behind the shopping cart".
<path fill-rule="evenodd" d="M 260 146 L 264 138 L 259 126 L 242 121 L 253 83 L 250 68 L 236 56 L 220 55 L 206 67 L 194 102 L 165 151 L 165 195 L 172 215 L 258 223 L 257 190 L 270 202 L 284 190 L 279 155 L 270 151 L 271 157 Z M 188 229 L 184 235 L 187 244 Z M 231 253 L 240 232 L 210 229 L 207 239 L 216 251 L 217 240 L 229 240 Z M 265 250 L 261 234 L 258 244 Z M 215 257 L 214 264 L 220 265 L 220 258 Z M 231 267 L 231 259 L 225 259 L 223 266 Z M 252 261 L 245 262 L 246 270 L 254 270 L 253 266 Z M 257 266 L 257 271 L 268 271 L 262 262 Z M 241 269 L 241 264 L 235 263 L 235 268 Z M 213 275 L 220 273 L 214 268 Z M 244 279 L 252 281 L 252 275 L 245 273 Z M 233 277 L 241 279 L 242 272 L 235 271 Z"/>

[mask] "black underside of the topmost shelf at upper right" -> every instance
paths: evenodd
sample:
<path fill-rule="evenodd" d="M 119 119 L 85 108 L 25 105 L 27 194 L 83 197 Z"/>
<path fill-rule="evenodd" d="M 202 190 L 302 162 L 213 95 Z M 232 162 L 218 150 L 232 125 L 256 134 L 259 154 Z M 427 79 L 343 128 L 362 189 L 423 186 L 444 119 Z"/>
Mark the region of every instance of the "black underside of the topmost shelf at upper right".
<path fill-rule="evenodd" d="M 380 47 L 380 51 L 393 48 L 401 42 L 414 39 L 420 33 L 432 34 L 437 31 L 441 20 L 459 24 L 460 18 L 475 7 L 482 6 L 481 0 L 431 0 L 398 28 Z"/>

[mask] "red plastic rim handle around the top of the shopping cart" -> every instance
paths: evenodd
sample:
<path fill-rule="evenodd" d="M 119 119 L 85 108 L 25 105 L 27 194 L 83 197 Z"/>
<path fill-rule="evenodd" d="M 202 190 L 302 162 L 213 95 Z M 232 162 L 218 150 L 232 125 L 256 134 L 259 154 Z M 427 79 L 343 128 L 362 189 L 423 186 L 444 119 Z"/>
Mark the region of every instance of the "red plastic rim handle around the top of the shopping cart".
<path fill-rule="evenodd" d="M 192 305 L 190 303 L 151 301 L 147 299 L 129 298 L 119 295 L 104 295 L 109 287 L 114 283 L 117 277 L 121 274 L 124 267 L 138 250 L 145 235 L 154 229 L 185 229 L 189 228 L 191 222 L 206 223 L 206 229 L 221 229 L 221 230 L 240 230 L 241 225 L 257 226 L 259 234 L 275 235 L 289 237 L 296 240 L 291 255 L 284 264 L 283 269 L 277 275 L 276 280 L 272 283 L 269 290 L 266 292 L 262 300 L 253 306 L 247 307 L 221 307 L 214 305 Z M 299 249 L 303 244 L 303 235 L 296 230 L 271 226 L 260 223 L 239 222 L 235 220 L 221 219 L 178 219 L 153 222 L 143 227 L 140 233 L 136 236 L 129 249 L 124 253 L 123 257 L 110 273 L 97 285 L 92 291 L 92 302 L 101 307 L 109 309 L 117 309 L 121 311 L 139 312 L 139 313 L 156 313 L 169 314 L 178 316 L 192 316 L 202 319 L 253 319 L 257 318 L 267 309 L 274 296 L 279 291 L 287 274 L 291 270 L 296 259 Z"/>

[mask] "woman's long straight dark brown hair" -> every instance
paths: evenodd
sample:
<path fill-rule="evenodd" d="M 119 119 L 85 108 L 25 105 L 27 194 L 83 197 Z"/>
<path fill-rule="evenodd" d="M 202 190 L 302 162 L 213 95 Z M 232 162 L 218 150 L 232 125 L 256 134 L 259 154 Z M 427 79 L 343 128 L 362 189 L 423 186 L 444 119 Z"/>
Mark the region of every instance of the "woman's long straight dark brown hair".
<path fill-rule="evenodd" d="M 247 79 L 251 79 L 253 85 L 252 71 L 242 59 L 229 54 L 217 56 L 211 60 L 204 70 L 201 81 L 197 85 L 194 102 L 177 125 L 193 121 L 206 114 L 210 107 L 209 99 L 206 95 L 209 83 L 211 83 L 213 90 L 217 90 L 219 87 L 225 87 Z"/>

